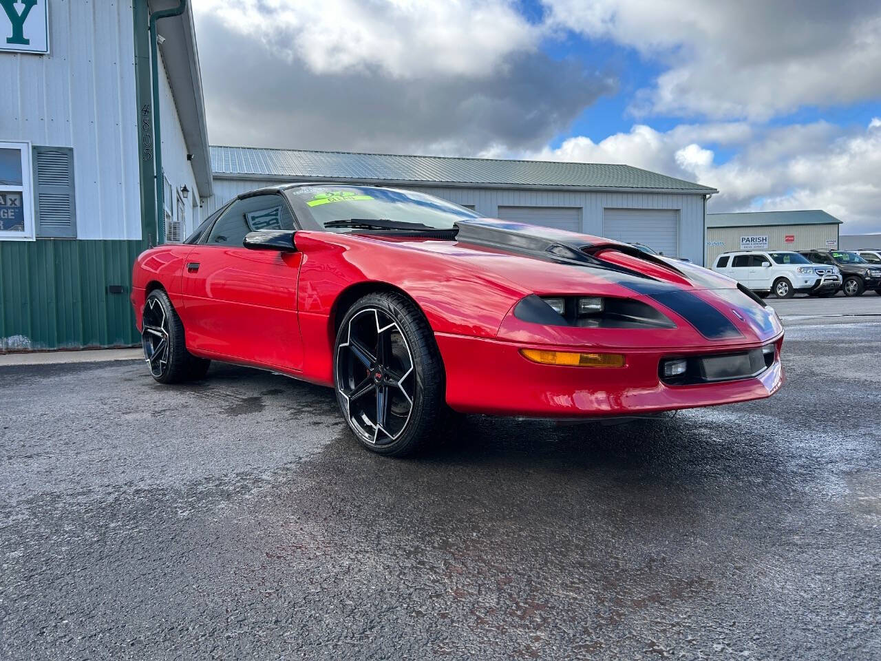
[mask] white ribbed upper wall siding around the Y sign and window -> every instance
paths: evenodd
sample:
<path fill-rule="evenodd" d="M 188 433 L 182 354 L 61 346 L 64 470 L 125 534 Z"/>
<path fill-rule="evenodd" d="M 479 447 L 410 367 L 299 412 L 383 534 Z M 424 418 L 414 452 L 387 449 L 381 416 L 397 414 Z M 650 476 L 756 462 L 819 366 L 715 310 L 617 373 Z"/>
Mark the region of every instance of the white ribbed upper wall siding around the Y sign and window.
<path fill-rule="evenodd" d="M 131 4 L 49 0 L 48 56 L 0 54 L 0 139 L 72 147 L 80 239 L 139 239 Z"/>

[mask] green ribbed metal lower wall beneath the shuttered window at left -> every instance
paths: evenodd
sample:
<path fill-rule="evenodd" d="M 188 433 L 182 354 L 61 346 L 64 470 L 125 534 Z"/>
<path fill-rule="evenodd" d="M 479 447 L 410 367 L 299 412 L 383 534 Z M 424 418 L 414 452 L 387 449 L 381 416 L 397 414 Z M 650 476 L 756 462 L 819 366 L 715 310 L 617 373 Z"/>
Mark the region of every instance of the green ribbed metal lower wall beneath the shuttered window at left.
<path fill-rule="evenodd" d="M 131 266 L 144 241 L 0 241 L 0 353 L 136 345 Z M 107 287 L 121 285 L 122 293 Z"/>

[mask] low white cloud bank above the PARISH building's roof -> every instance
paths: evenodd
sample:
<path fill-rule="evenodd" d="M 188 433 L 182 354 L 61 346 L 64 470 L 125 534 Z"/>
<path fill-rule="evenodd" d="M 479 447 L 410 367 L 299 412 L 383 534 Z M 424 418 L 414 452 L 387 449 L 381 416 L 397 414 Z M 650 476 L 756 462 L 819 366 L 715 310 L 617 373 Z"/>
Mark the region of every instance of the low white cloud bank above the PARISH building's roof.
<path fill-rule="evenodd" d="M 703 142 L 704 145 L 700 143 Z M 734 148 L 716 163 L 710 145 Z M 845 234 L 881 232 L 881 121 L 844 130 L 828 123 L 750 127 L 680 125 L 657 131 L 637 124 L 594 143 L 572 137 L 543 160 L 626 163 L 719 189 L 714 212 L 824 209 L 845 221 Z"/>

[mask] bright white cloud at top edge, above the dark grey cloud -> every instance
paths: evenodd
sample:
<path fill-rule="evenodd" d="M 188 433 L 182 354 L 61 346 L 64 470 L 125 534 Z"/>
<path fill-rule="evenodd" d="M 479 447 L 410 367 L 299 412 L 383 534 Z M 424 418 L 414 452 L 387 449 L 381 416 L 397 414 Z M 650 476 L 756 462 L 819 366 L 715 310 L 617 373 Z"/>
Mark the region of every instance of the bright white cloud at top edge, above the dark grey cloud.
<path fill-rule="evenodd" d="M 507 0 L 200 0 L 208 14 L 316 74 L 485 76 L 543 32 Z"/>

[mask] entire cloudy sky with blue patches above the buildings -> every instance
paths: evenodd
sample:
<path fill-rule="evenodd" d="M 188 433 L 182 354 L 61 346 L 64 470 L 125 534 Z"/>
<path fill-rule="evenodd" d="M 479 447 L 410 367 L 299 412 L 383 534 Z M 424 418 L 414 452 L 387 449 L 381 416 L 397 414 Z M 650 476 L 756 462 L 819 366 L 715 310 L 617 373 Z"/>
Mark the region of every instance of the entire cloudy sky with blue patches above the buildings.
<path fill-rule="evenodd" d="M 196 0 L 218 145 L 627 163 L 881 232 L 881 0 Z"/>

